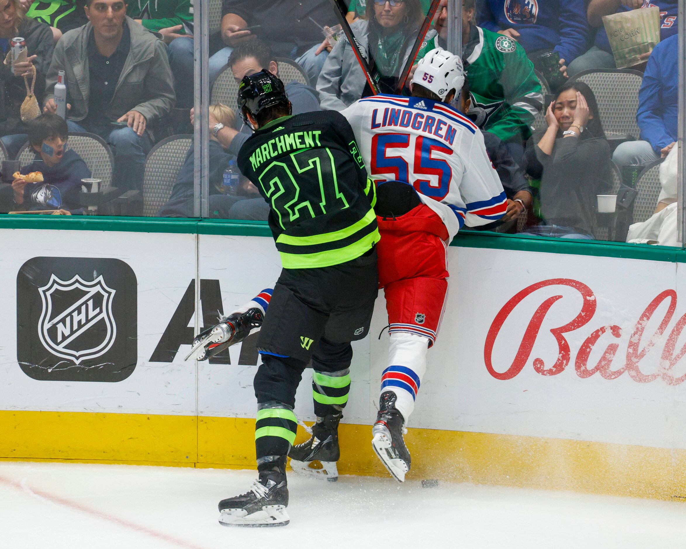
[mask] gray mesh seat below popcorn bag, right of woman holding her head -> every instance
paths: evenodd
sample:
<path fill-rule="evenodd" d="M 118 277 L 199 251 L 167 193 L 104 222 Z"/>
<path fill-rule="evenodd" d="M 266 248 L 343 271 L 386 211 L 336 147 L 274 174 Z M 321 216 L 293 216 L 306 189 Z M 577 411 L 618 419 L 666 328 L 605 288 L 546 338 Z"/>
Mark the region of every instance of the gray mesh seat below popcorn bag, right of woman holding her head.
<path fill-rule="evenodd" d="M 600 121 L 608 139 L 639 139 L 636 122 L 643 74 L 630 69 L 581 71 L 571 78 L 588 84 L 598 100 Z"/>

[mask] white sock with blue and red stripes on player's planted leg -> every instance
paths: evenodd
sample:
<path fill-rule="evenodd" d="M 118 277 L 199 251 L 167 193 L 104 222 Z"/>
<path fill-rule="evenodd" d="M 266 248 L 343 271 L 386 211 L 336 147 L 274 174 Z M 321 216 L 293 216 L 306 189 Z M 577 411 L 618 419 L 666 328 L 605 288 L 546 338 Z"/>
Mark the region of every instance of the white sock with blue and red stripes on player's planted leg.
<path fill-rule="evenodd" d="M 390 334 L 388 368 L 381 375 L 381 393 L 397 395 L 395 407 L 407 423 L 417 396 L 422 376 L 427 369 L 429 338 L 397 331 Z"/>

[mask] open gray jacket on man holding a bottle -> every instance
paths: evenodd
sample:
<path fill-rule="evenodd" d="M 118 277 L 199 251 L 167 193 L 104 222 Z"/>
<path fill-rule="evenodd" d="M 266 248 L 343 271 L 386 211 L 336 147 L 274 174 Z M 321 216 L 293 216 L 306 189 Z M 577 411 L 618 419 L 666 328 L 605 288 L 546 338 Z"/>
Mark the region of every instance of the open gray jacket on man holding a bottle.
<path fill-rule="evenodd" d="M 129 25 L 131 49 L 106 117 L 117 120 L 129 110 L 137 110 L 150 124 L 167 115 L 176 103 L 167 48 L 162 40 L 130 17 L 126 18 L 124 25 Z M 64 34 L 55 47 L 47 73 L 45 102 L 54 97 L 57 72 L 65 71 L 71 103 L 68 117 L 73 121 L 83 120 L 88 115 L 88 95 L 91 92 L 88 34 L 92 29 L 93 25 L 88 23 Z"/>

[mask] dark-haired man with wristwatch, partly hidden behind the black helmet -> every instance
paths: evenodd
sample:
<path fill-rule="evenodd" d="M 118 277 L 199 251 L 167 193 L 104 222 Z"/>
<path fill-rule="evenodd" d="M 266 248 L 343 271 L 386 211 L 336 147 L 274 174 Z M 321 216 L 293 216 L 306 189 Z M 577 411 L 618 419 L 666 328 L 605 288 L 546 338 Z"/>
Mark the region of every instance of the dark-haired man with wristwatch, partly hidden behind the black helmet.
<path fill-rule="evenodd" d="M 255 74 L 261 70 L 279 76 L 279 63 L 274 60 L 274 54 L 261 40 L 250 40 L 236 47 L 228 59 L 228 67 L 233 72 L 236 82 L 241 82 L 244 76 Z M 293 114 L 309 113 L 312 110 L 321 110 L 317 91 L 311 87 L 294 80 L 286 84 L 286 95 L 293 105 Z M 217 121 L 210 115 L 210 129 L 214 131 Z M 240 123 L 239 123 L 240 124 Z M 238 156 L 243 143 L 248 141 L 252 130 L 245 124 L 239 128 L 224 127 L 217 130 L 217 137 L 222 146 L 234 156 Z"/>

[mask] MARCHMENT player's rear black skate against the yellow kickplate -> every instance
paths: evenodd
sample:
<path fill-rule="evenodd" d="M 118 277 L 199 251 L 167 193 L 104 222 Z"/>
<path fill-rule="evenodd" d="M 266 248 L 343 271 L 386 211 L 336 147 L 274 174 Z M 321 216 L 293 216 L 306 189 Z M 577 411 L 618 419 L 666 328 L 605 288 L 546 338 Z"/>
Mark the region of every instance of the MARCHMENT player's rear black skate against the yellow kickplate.
<path fill-rule="evenodd" d="M 329 482 L 338 480 L 336 462 L 340 458 L 338 447 L 338 422 L 343 414 L 318 417 L 312 425 L 312 436 L 309 441 L 291 448 L 288 457 L 291 458 L 291 468 L 294 473 L 314 476 Z M 311 467 L 315 461 L 322 464 L 321 469 Z"/>

